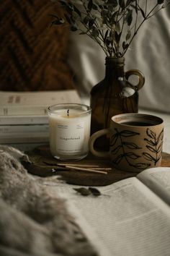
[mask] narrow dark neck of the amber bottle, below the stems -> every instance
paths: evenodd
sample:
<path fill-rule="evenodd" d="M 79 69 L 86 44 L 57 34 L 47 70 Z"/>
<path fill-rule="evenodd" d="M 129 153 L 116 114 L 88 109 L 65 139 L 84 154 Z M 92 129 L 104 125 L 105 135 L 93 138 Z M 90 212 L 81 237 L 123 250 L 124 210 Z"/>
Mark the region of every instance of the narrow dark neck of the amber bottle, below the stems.
<path fill-rule="evenodd" d="M 124 66 L 125 59 L 124 58 L 106 58 L 105 62 L 105 78 L 106 77 L 124 77 Z"/>

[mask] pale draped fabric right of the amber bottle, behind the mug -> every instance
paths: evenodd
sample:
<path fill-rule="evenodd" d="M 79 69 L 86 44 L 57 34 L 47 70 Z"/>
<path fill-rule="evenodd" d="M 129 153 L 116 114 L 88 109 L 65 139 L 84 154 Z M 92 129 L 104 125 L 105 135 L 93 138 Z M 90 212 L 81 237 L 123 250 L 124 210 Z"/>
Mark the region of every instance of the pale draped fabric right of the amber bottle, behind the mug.
<path fill-rule="evenodd" d="M 169 18 L 170 5 L 143 24 L 125 56 L 126 68 L 137 68 L 146 77 L 139 106 L 165 112 L 170 112 Z"/>

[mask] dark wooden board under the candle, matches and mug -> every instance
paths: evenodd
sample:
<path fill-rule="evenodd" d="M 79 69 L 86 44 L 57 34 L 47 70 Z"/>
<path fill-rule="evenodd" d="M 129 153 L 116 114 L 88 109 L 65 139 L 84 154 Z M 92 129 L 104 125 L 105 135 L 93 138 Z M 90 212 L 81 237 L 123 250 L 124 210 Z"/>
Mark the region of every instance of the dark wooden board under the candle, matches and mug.
<path fill-rule="evenodd" d="M 98 165 L 100 167 L 111 167 L 112 171 L 108 171 L 108 174 L 93 174 L 84 171 L 53 171 L 57 163 L 61 161 L 56 160 L 50 155 L 50 149 L 48 145 L 41 146 L 40 148 L 35 148 L 30 152 L 26 152 L 29 155 L 32 164 L 25 163 L 24 166 L 31 174 L 38 176 L 52 176 L 60 175 L 61 179 L 66 181 L 68 184 L 77 184 L 81 186 L 105 186 L 112 184 L 113 182 L 120 181 L 121 179 L 126 179 L 132 176 L 136 176 L 138 173 L 120 171 L 112 167 L 112 163 L 109 158 L 97 158 L 89 154 L 86 158 L 81 161 L 76 161 L 79 164 L 91 164 Z M 73 163 L 72 162 L 62 162 L 62 163 Z M 170 154 L 163 153 L 161 166 L 170 167 Z"/>

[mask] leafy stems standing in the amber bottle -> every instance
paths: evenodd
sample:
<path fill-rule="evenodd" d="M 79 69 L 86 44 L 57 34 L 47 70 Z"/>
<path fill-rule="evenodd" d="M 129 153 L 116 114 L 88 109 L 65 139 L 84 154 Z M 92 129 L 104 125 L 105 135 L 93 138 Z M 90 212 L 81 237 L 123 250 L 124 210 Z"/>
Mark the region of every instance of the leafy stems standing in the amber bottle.
<path fill-rule="evenodd" d="M 164 9 L 170 0 L 55 0 L 65 10 L 64 17 L 53 15 L 53 25 L 68 24 L 72 31 L 88 35 L 106 56 L 124 56 L 143 22 Z M 144 2 L 141 7 L 140 2 Z"/>

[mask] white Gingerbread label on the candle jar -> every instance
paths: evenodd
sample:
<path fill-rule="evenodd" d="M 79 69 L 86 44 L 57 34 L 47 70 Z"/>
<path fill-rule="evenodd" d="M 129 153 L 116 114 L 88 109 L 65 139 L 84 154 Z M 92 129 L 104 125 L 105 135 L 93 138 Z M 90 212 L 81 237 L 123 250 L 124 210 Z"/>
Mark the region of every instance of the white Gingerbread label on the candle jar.
<path fill-rule="evenodd" d="M 84 122 L 57 124 L 56 150 L 61 153 L 79 153 L 84 147 Z"/>

